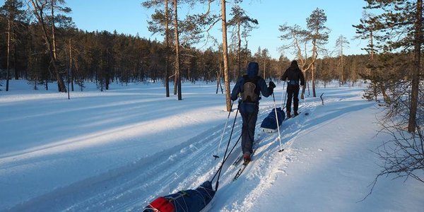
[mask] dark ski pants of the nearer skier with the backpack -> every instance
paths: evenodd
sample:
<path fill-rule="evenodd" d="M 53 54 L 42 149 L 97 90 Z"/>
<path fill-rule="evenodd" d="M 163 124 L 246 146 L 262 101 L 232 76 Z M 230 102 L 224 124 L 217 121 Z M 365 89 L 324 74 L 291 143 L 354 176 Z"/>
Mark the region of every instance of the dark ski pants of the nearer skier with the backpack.
<path fill-rule="evenodd" d="M 254 110 L 240 110 L 243 119 L 242 126 L 242 151 L 243 154 L 252 154 L 254 129 L 258 119 L 259 107 L 254 105 Z"/>

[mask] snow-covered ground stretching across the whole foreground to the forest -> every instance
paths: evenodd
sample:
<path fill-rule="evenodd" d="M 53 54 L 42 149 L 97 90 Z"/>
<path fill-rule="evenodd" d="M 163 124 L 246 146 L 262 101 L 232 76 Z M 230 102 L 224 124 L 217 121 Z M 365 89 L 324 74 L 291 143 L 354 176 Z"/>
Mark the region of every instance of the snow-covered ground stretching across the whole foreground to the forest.
<path fill-rule="evenodd" d="M 142 211 L 213 177 L 222 160 L 213 155 L 223 155 L 235 117 L 218 150 L 228 112 L 215 83 L 184 83 L 182 101 L 165 98 L 161 83 L 114 83 L 103 93 L 87 86 L 71 100 L 25 81 L 0 91 L 0 211 Z M 232 182 L 237 145 L 211 211 L 423 211 L 424 184 L 412 179 L 382 177 L 361 201 L 381 163 L 371 151 L 389 139 L 377 136 L 379 108 L 362 90 L 317 88 L 324 105 L 307 97 L 300 116 L 283 122 L 281 153 L 278 134 L 259 130 L 273 108 L 263 98 L 259 148 Z M 278 106 L 283 94 L 277 85 Z M 230 146 L 241 125 L 239 115 Z"/>

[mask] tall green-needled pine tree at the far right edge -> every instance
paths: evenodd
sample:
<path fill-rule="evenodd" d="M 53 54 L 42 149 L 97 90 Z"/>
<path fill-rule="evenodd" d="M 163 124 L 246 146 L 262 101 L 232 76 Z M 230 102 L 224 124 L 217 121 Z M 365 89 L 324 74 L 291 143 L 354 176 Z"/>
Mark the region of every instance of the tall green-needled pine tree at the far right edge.
<path fill-rule="evenodd" d="M 381 33 L 377 38 L 386 52 L 401 51 L 413 54 L 413 71 L 410 73 L 411 98 L 409 103 L 408 131 L 416 131 L 418 90 L 420 83 L 420 60 L 423 45 L 423 0 L 366 0 L 366 10 L 382 11 L 367 20 L 377 25 Z"/>

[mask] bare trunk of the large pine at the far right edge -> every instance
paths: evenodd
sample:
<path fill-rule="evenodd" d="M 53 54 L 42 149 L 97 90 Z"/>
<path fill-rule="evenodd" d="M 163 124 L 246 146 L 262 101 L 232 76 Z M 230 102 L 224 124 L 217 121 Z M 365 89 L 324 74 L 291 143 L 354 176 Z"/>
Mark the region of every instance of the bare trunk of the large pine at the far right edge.
<path fill-rule="evenodd" d="M 408 120 L 408 131 L 416 131 L 416 114 L 418 109 L 418 89 L 420 86 L 421 45 L 423 44 L 423 0 L 417 0 L 417 12 L 414 37 L 414 69 L 412 74 L 411 105 Z"/>

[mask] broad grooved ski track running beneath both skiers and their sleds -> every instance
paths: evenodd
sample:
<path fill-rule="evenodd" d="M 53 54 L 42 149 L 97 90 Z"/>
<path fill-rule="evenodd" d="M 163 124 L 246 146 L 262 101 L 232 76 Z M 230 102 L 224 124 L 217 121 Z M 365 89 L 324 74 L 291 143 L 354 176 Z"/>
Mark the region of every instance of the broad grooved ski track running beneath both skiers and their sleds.
<path fill-rule="evenodd" d="M 239 167 L 232 165 L 232 162 L 240 156 L 241 141 L 239 141 L 223 167 L 216 197 L 219 198 L 220 194 L 225 192 L 226 187 L 230 187 L 230 189 L 235 189 L 233 187 L 235 185 L 241 187 L 240 184 L 245 183 L 246 179 L 249 181 L 263 180 L 262 178 L 270 168 L 269 163 L 273 155 L 279 149 L 278 135 L 268 135 L 260 131 L 261 120 L 271 112 L 272 108 L 271 106 L 261 107 L 259 111 L 255 137 L 260 137 L 260 143 L 254 160 L 240 179 L 232 182 Z M 303 108 L 300 107 L 300 110 Z M 281 125 L 283 148 L 288 148 L 290 142 L 293 142 L 296 132 L 301 130 L 300 119 L 302 118 L 296 117 L 283 121 Z M 10 209 L 11 211 L 140 211 L 158 196 L 172 194 L 182 189 L 194 189 L 202 182 L 210 180 L 222 161 L 225 147 L 230 138 L 233 120 L 234 114 L 230 116 L 218 152 L 220 158 L 217 160 L 212 155 L 216 153 L 217 143 L 219 143 L 223 131 L 221 125 L 208 129 L 173 148 L 141 158 L 124 167 L 108 170 L 67 187 L 55 189 Z M 290 126 L 288 126 L 289 124 Z M 241 126 L 241 117 L 240 114 L 237 114 L 229 150 L 239 139 Z M 297 130 L 293 131 L 293 129 Z M 288 131 L 292 132 L 287 133 Z M 278 154 L 285 155 L 287 153 L 290 153 L 290 148 Z M 187 172 L 190 173 L 188 177 Z M 255 184 L 250 184 L 250 189 L 254 189 Z M 245 185 L 242 186 L 242 189 L 246 188 Z M 254 195 L 257 194 L 256 189 Z M 232 206 L 229 204 L 230 208 L 223 208 L 223 211 L 235 211 L 235 208 L 241 208 L 241 211 L 248 209 L 249 204 L 246 203 L 251 199 L 252 196 L 247 196 L 242 203 L 235 201 Z"/>

